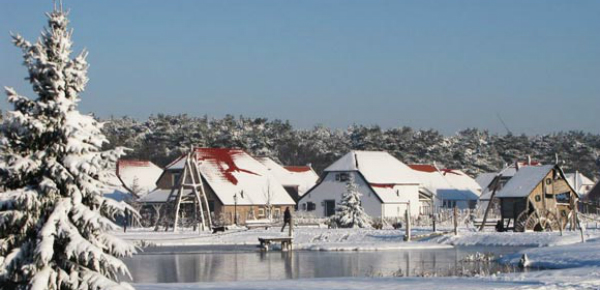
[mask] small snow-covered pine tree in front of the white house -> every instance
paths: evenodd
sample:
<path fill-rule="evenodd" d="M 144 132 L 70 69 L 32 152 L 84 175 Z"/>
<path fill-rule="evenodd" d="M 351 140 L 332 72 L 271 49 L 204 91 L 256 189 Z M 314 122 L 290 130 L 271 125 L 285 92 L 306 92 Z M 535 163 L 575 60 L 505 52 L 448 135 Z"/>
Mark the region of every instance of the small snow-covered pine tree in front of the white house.
<path fill-rule="evenodd" d="M 336 208 L 332 221 L 340 228 L 370 228 L 371 218 L 362 207 L 358 186 L 354 181 L 354 175 L 350 174 L 346 182 L 346 192 Z"/>

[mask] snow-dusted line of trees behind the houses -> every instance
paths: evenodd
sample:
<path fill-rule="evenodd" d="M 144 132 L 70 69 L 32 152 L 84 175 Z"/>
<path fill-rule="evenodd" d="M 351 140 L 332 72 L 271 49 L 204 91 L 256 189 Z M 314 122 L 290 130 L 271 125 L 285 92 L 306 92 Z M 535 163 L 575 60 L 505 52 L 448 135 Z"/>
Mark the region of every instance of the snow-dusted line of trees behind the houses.
<path fill-rule="evenodd" d="M 598 178 L 600 135 L 580 131 L 547 135 L 499 135 L 466 129 L 452 136 L 410 127 L 381 129 L 350 126 L 346 130 L 317 126 L 295 129 L 287 121 L 226 116 L 157 115 L 145 121 L 129 117 L 105 120 L 109 146 L 131 148 L 128 158 L 168 164 L 192 146 L 240 148 L 286 165 L 311 164 L 317 172 L 349 150 L 385 150 L 404 163 L 436 163 L 476 176 L 531 156 L 546 164 L 558 155 L 566 171 Z"/>

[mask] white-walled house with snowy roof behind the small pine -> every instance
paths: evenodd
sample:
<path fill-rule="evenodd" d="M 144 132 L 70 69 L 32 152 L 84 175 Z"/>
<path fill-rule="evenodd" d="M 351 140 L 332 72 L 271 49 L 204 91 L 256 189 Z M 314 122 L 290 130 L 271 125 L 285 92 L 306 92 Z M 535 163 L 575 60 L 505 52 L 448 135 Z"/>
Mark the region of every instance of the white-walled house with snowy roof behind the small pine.
<path fill-rule="evenodd" d="M 317 217 L 333 215 L 350 176 L 362 193 L 368 215 L 403 217 L 409 205 L 413 216 L 419 214 L 418 178 L 410 167 L 383 151 L 350 151 L 342 156 L 325 168 L 319 183 L 300 198 L 299 209 Z"/>

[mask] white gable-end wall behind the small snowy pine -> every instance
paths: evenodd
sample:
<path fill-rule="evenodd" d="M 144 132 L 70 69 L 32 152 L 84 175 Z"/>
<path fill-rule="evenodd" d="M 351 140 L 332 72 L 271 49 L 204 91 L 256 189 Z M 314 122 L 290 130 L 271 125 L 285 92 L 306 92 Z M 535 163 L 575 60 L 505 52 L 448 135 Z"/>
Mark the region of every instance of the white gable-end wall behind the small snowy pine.
<path fill-rule="evenodd" d="M 365 212 L 372 217 L 380 217 L 382 208 L 381 201 L 358 172 L 348 173 L 354 175 L 358 190 L 363 194 L 362 206 L 365 209 Z M 298 209 L 302 210 L 303 204 L 313 202 L 316 205 L 316 209 L 314 211 L 309 211 L 308 213 L 316 217 L 324 217 L 325 206 L 322 204 L 324 200 L 333 199 L 337 205 L 341 201 L 342 195 L 346 192 L 346 182 L 336 181 L 335 174 L 336 172 L 328 172 L 321 183 L 302 197 L 298 203 Z"/>

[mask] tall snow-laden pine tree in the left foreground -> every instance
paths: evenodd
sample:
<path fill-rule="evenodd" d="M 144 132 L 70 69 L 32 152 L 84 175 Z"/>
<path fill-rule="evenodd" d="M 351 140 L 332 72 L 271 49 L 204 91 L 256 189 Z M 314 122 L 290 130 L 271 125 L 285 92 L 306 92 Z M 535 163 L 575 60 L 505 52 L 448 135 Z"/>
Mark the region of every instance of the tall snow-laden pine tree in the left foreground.
<path fill-rule="evenodd" d="M 135 247 L 108 233 L 128 207 L 101 194 L 124 152 L 100 151 L 101 124 L 77 111 L 87 53 L 71 59 L 62 8 L 47 16 L 35 44 L 13 36 L 37 98 L 5 88 L 14 110 L 0 126 L 0 288 L 133 289 L 118 275 Z"/>

